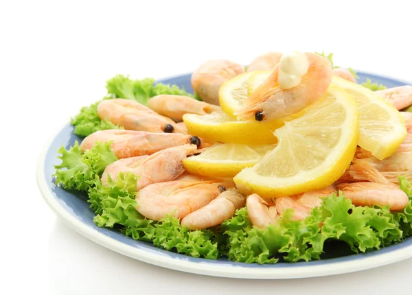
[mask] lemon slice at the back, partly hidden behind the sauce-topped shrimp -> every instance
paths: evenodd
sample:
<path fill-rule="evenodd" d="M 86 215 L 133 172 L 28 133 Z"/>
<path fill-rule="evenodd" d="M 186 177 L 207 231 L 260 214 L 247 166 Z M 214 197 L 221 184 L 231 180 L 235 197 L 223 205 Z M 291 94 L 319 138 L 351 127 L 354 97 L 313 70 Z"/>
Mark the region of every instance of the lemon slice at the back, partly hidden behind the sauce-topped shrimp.
<path fill-rule="evenodd" d="M 235 78 L 226 81 L 219 89 L 220 108 L 233 115 L 234 112 L 242 108 L 243 102 L 248 95 L 248 80 L 252 75 L 260 71 L 251 71 L 237 75 Z M 270 71 L 268 71 L 270 73 Z"/>

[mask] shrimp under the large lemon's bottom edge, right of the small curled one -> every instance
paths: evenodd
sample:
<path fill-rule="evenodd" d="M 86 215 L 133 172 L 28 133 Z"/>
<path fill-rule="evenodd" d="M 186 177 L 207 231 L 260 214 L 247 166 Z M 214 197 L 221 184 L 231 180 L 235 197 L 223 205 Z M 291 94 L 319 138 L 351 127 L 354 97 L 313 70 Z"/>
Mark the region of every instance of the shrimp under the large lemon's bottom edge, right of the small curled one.
<path fill-rule="evenodd" d="M 317 189 L 306 193 L 299 193 L 293 196 L 284 196 L 275 199 L 277 213 L 282 215 L 286 209 L 294 209 L 295 215 L 292 220 L 304 220 L 310 215 L 310 212 L 315 207 L 322 204 L 323 198 L 332 196 L 336 189 L 334 186 L 325 187 L 325 189 Z"/>

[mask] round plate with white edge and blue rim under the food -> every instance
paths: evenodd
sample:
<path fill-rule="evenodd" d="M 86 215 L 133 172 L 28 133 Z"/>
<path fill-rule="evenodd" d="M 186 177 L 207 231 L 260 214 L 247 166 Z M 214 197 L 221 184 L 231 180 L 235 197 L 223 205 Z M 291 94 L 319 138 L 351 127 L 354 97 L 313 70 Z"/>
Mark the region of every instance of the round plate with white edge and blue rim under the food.
<path fill-rule="evenodd" d="M 365 72 L 358 73 L 359 82 L 370 78 L 388 87 L 409 84 L 393 78 Z M 180 75 L 159 82 L 183 86 L 192 91 L 190 75 Z M 87 196 L 65 191 L 54 185 L 54 165 L 60 163 L 57 150 L 61 145 L 66 148 L 81 138 L 73 134 L 73 126 L 66 123 L 47 143 L 38 158 L 36 176 L 38 187 L 49 207 L 71 228 L 78 233 L 122 255 L 151 263 L 163 268 L 239 279 L 293 279 L 313 276 L 328 276 L 356 272 L 384 266 L 412 257 L 412 237 L 399 244 L 382 248 L 378 251 L 336 257 L 331 259 L 298 262 L 277 263 L 274 265 L 258 265 L 227 261 L 227 259 L 208 260 L 188 257 L 174 252 L 168 252 L 143 241 L 135 241 L 121 233 L 99 228 L 93 223 L 93 212 L 86 202 Z"/>

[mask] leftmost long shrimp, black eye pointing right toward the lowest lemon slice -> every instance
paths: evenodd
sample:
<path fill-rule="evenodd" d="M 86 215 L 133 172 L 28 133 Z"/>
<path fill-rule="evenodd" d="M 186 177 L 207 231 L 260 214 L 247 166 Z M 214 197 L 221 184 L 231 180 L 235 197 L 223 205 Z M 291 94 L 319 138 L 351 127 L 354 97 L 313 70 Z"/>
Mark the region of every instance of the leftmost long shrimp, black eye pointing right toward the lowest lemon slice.
<path fill-rule="evenodd" d="M 100 130 L 83 139 L 83 152 L 91 149 L 98 141 L 112 141 L 110 147 L 117 158 L 130 158 L 155 154 L 160 150 L 186 143 L 202 147 L 201 139 L 179 133 L 152 133 L 133 130 Z"/>

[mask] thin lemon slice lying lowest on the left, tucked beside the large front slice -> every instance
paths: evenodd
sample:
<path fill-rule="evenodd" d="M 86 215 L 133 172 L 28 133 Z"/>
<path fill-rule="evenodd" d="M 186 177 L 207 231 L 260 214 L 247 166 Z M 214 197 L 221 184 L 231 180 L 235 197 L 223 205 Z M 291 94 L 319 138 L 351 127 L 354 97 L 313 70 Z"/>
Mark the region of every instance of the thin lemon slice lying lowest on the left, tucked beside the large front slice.
<path fill-rule="evenodd" d="M 233 177 L 246 167 L 252 167 L 276 145 L 243 145 L 215 143 L 198 156 L 183 160 L 185 169 L 203 176 Z"/>

